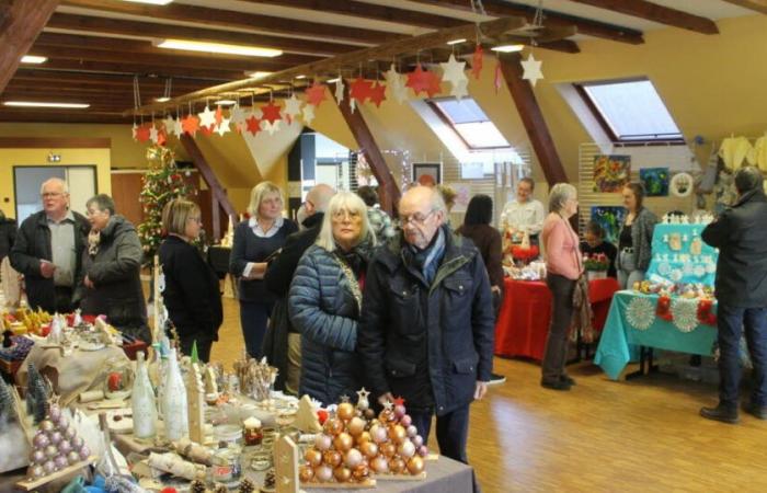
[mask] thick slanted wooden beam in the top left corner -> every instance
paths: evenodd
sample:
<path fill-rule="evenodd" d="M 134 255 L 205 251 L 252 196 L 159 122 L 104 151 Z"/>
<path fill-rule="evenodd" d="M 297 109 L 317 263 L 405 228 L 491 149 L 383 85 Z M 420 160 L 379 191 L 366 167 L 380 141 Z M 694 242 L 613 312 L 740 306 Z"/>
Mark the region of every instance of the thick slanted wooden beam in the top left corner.
<path fill-rule="evenodd" d="M 0 32 L 0 92 L 16 72 L 21 57 L 30 50 L 58 2 L 59 0 L 16 0 L 5 12 Z"/>

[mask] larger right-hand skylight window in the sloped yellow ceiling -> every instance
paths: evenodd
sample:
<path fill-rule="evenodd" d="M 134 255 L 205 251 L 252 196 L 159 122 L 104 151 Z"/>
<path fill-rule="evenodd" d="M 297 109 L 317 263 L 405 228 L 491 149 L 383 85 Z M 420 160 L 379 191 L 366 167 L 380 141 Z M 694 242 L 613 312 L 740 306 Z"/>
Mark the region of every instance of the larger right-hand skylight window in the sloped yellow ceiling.
<path fill-rule="evenodd" d="M 649 80 L 584 83 L 576 88 L 615 141 L 683 139 Z"/>

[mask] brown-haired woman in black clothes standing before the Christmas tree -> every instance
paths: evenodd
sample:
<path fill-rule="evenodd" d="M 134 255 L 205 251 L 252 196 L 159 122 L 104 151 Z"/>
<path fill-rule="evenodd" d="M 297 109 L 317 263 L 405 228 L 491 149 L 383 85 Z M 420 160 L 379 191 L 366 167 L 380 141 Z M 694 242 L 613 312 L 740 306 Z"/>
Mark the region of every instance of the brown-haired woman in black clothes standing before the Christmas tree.
<path fill-rule="evenodd" d="M 224 311 L 218 276 L 192 244 L 202 229 L 199 207 L 181 198 L 169 202 L 162 210 L 162 229 L 168 234 L 159 252 L 165 278 L 162 299 L 182 353 L 191 354 L 196 342 L 199 359 L 207 363 Z"/>

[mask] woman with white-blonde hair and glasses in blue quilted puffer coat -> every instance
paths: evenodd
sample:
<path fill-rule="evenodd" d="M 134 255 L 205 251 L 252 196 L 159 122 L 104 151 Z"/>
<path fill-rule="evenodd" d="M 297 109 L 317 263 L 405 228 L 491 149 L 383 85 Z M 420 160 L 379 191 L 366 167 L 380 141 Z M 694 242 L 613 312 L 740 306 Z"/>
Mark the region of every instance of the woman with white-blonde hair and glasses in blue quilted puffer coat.
<path fill-rule="evenodd" d="M 298 264 L 288 297 L 290 322 L 301 333 L 300 395 L 328 405 L 354 395 L 363 385 L 355 353 L 357 321 L 375 244 L 362 198 L 348 192 L 335 195 L 317 243 Z"/>

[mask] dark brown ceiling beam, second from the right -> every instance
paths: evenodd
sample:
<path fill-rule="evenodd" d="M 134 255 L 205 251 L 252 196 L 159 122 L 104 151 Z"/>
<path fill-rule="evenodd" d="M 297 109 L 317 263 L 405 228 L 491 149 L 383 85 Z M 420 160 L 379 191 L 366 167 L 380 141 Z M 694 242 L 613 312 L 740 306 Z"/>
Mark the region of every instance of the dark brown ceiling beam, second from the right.
<path fill-rule="evenodd" d="M 417 3 L 424 3 L 427 5 L 435 7 L 447 7 L 456 10 L 461 10 L 466 12 L 471 12 L 471 2 L 467 0 L 412 0 Z M 536 13 L 536 8 L 531 5 L 526 5 L 523 3 L 513 3 L 503 0 L 484 0 L 484 10 L 488 15 L 493 16 L 522 16 L 527 20 L 528 23 L 533 22 Z M 632 45 L 639 45 L 644 43 L 642 37 L 642 32 L 632 30 L 630 27 L 618 26 L 614 24 L 607 24 L 604 22 L 592 21 L 589 19 L 579 18 L 575 15 L 568 15 L 550 10 L 543 10 L 545 21 L 543 24 L 550 27 L 561 27 L 568 25 L 575 25 L 577 32 L 581 34 L 587 34 L 594 37 L 600 37 L 605 39 L 610 39 L 619 43 L 628 43 Z"/>

